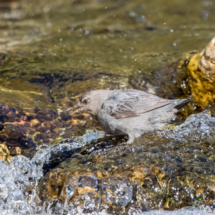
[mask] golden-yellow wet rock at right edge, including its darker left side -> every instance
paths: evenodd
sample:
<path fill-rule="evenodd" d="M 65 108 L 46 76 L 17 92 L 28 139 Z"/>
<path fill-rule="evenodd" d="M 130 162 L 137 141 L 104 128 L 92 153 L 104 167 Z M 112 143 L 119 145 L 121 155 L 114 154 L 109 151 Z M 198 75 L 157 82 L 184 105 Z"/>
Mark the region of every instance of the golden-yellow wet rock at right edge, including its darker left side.
<path fill-rule="evenodd" d="M 191 97 L 194 99 L 194 107 L 190 105 L 189 113 L 196 108 L 205 108 L 215 99 L 215 38 L 202 51 L 194 53 L 183 59 L 177 68 L 178 93 L 175 97 Z M 178 75 L 180 74 L 180 75 Z M 178 94 L 178 95 L 177 95 Z"/>

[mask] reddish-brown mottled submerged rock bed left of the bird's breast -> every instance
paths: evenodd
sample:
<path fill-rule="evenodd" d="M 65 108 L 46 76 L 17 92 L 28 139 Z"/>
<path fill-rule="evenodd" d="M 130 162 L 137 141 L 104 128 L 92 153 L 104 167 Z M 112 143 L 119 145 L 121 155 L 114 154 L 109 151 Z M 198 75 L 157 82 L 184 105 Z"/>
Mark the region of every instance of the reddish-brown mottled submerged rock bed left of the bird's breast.
<path fill-rule="evenodd" d="M 84 130 L 84 125 L 89 121 L 91 117 L 88 114 L 71 117 L 61 111 L 15 109 L 0 105 L 0 127 L 3 125 L 3 129 L 0 129 L 0 141 L 5 143 L 13 156 L 20 154 L 16 151 L 17 147 L 23 155 L 32 156 L 36 147 L 71 137 L 79 129 Z"/>

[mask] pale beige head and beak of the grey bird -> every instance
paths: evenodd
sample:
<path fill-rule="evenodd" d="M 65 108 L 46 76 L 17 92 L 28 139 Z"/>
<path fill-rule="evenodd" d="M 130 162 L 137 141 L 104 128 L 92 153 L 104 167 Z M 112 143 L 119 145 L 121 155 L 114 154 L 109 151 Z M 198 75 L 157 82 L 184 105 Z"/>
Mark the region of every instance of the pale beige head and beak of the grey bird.
<path fill-rule="evenodd" d="M 85 112 L 96 115 L 104 101 L 109 97 L 110 92 L 110 90 L 93 90 L 85 93 L 73 107 L 67 110 L 78 108 L 72 114 Z"/>

